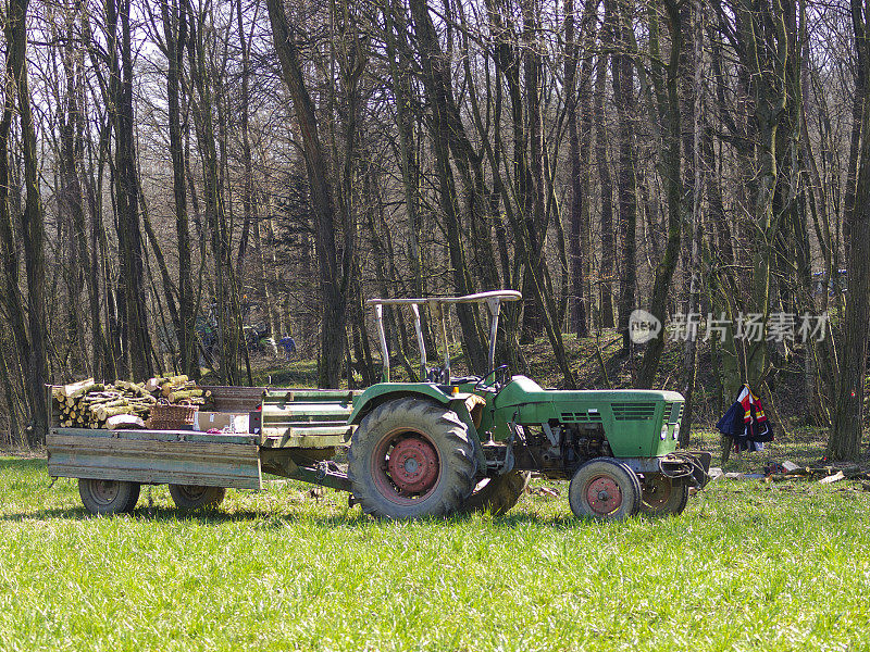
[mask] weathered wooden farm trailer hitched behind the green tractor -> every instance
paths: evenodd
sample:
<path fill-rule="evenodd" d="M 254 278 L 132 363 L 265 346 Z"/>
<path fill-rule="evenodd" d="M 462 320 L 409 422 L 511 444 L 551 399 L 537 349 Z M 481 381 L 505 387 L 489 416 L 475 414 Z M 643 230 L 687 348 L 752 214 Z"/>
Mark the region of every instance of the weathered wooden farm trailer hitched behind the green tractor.
<path fill-rule="evenodd" d="M 129 512 L 141 485 L 169 485 L 176 505 L 214 505 L 225 490 L 263 489 L 263 474 L 350 491 L 332 462 L 347 447 L 358 391 L 203 387 L 219 414 L 246 414 L 249 431 L 63 428 L 52 415 L 47 438 L 52 477 L 77 478 L 95 514 Z"/>

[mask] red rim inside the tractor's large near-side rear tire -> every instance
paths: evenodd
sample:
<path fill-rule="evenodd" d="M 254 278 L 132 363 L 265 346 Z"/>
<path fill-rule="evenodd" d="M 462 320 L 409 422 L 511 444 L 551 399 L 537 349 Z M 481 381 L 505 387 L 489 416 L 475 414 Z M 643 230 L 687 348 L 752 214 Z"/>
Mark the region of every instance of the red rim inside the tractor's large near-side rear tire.
<path fill-rule="evenodd" d="M 408 504 L 432 493 L 440 477 L 440 459 L 423 432 L 394 430 L 375 449 L 372 468 L 381 493 Z"/>

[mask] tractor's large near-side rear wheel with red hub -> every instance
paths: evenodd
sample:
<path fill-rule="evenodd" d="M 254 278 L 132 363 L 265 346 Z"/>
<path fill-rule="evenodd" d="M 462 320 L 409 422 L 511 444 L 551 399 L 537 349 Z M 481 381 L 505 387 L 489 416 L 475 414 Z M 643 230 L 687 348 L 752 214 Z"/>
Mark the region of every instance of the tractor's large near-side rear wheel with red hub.
<path fill-rule="evenodd" d="M 415 398 L 375 408 L 353 432 L 348 478 L 363 512 L 446 516 L 474 489 L 474 444 L 456 412 Z M 394 477 L 395 476 L 395 477 Z"/>

